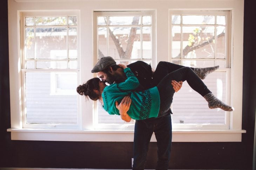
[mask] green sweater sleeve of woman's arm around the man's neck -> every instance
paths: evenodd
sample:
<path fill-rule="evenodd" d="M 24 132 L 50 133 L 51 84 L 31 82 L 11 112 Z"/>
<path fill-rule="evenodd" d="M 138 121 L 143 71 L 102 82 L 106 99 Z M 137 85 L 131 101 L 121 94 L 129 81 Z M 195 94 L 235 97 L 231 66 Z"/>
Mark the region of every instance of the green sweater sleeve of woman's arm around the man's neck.
<path fill-rule="evenodd" d="M 139 80 L 135 77 L 130 68 L 125 68 L 124 73 L 126 74 L 126 81 L 117 84 L 117 87 L 122 91 L 135 90 L 139 85 Z"/>

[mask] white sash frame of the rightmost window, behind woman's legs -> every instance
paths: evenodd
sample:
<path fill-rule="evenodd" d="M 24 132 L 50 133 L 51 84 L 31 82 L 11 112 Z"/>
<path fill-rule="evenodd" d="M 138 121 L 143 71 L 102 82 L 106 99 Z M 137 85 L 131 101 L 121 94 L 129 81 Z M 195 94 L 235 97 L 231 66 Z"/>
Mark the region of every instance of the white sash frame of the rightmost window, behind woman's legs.
<path fill-rule="evenodd" d="M 172 15 L 180 15 L 181 16 L 181 24 L 172 24 Z M 225 68 L 219 68 L 217 71 L 215 72 L 225 72 L 226 74 L 226 100 L 224 101 L 224 103 L 227 103 L 229 105 L 230 104 L 230 98 L 231 98 L 231 93 L 230 93 L 230 82 L 231 82 L 231 68 L 230 68 L 230 48 L 231 48 L 231 11 L 230 10 L 223 10 L 223 11 L 216 11 L 216 10 L 170 10 L 170 16 L 169 16 L 169 23 L 170 23 L 170 49 L 172 48 L 172 30 L 171 30 L 171 26 L 183 26 L 183 25 L 193 25 L 193 24 L 182 24 L 182 15 L 219 15 L 219 16 L 225 16 L 226 19 L 226 24 L 225 24 L 225 58 L 224 59 L 217 59 L 216 55 L 214 56 L 214 58 L 183 58 L 182 57 L 182 46 L 181 46 L 181 58 L 172 58 L 172 50 L 170 50 L 169 52 L 169 56 L 170 56 L 170 61 L 172 60 L 180 60 L 180 63 L 182 64 L 183 60 L 197 60 L 197 61 L 214 61 L 214 66 L 216 66 L 216 61 L 217 60 L 223 60 L 225 61 Z M 216 19 L 215 19 L 215 23 L 214 24 L 210 24 L 210 26 L 216 26 Z M 214 34 L 215 36 L 215 40 L 217 35 Z M 181 39 L 182 38 L 182 32 L 181 32 Z M 182 43 L 181 43 L 182 45 Z M 216 49 L 214 50 L 216 52 Z M 225 124 L 172 124 L 173 129 L 201 129 L 201 130 L 206 130 L 206 129 L 211 129 L 211 130 L 229 130 L 230 129 L 230 113 L 231 112 L 225 112 Z M 174 113 L 175 114 L 175 113 Z"/>

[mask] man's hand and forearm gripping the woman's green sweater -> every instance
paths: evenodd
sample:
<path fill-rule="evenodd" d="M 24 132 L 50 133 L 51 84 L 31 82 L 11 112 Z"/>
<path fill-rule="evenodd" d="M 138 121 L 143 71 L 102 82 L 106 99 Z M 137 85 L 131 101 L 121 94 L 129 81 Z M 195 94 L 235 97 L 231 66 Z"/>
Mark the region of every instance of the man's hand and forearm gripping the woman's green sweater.
<path fill-rule="evenodd" d="M 119 110 L 121 119 L 123 119 L 124 121 L 130 122 L 131 121 L 131 117 L 127 114 L 127 111 L 130 109 L 130 105 L 132 103 L 132 99 L 130 98 L 130 96 L 125 96 L 121 103 L 118 104 L 118 102 L 116 101 L 116 108 Z"/>

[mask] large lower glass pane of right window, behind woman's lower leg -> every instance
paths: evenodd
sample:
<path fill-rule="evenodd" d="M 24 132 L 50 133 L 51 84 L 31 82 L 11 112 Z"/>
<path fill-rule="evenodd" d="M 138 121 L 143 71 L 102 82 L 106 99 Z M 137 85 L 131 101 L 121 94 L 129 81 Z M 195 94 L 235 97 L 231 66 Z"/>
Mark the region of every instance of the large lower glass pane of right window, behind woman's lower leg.
<path fill-rule="evenodd" d="M 226 81 L 225 72 L 214 72 L 204 79 L 207 87 L 223 102 L 226 100 Z M 175 124 L 225 124 L 225 111 L 219 108 L 209 109 L 206 100 L 190 88 L 187 82 L 175 94 L 172 111 Z"/>

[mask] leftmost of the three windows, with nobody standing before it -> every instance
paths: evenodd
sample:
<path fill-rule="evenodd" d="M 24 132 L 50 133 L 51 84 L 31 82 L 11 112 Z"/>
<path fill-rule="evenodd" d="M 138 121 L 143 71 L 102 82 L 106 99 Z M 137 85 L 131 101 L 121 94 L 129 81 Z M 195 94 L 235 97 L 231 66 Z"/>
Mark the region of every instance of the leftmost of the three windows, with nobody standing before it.
<path fill-rule="evenodd" d="M 23 128 L 80 126 L 78 15 L 21 13 Z"/>

